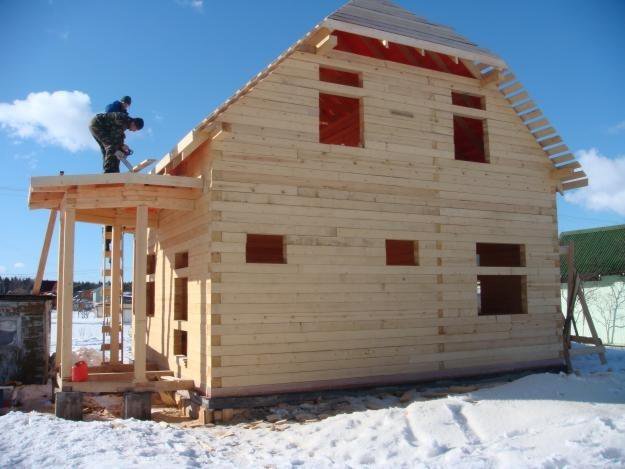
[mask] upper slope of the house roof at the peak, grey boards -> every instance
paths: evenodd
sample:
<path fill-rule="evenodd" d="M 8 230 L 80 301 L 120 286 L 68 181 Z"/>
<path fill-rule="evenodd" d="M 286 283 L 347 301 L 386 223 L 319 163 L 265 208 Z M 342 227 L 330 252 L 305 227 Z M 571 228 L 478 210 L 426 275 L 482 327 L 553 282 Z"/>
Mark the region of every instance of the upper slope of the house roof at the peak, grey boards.
<path fill-rule="evenodd" d="M 453 28 L 432 23 L 388 0 L 351 0 L 328 16 L 323 24 L 330 29 L 345 29 L 341 27 L 344 23 L 363 28 L 360 30 L 363 35 L 367 34 L 366 30 L 370 30 L 369 35 L 385 39 L 379 37 L 380 33 L 388 33 L 401 36 L 404 40 L 397 37 L 388 39 L 402 44 L 415 47 L 421 45 L 435 52 L 456 54 L 470 60 L 505 67 L 505 62 L 499 56 L 469 41 Z"/>

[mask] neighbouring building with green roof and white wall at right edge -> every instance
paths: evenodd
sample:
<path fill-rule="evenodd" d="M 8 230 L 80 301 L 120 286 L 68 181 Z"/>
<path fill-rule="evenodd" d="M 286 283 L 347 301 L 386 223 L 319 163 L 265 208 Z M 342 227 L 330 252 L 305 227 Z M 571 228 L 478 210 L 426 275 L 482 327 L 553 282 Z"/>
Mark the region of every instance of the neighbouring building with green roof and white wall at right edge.
<path fill-rule="evenodd" d="M 561 245 L 571 242 L 575 266 L 584 280 L 584 293 L 601 340 L 625 345 L 625 225 L 567 231 L 560 235 Z M 562 298 L 566 301 L 566 262 L 560 264 L 560 277 Z M 588 335 L 581 314 L 576 314 L 576 320 L 580 333 Z"/>

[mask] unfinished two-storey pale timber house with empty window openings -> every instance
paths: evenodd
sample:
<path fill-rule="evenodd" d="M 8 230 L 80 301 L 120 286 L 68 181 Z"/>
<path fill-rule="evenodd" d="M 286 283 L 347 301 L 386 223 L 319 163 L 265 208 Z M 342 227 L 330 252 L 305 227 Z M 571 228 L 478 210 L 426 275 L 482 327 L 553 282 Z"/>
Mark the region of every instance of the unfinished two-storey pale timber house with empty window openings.
<path fill-rule="evenodd" d="M 561 366 L 556 194 L 586 184 L 501 58 L 352 0 L 153 174 L 30 203 L 135 233 L 135 388 L 147 360 L 228 398 Z"/>

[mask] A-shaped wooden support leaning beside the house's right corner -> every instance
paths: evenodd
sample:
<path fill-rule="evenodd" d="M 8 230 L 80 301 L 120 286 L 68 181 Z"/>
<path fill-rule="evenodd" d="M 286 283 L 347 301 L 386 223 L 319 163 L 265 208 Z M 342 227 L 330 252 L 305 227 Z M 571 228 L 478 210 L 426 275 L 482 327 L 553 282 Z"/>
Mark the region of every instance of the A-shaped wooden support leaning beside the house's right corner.
<path fill-rule="evenodd" d="M 590 315 L 590 310 L 588 309 L 588 304 L 586 303 L 586 297 L 584 296 L 584 289 L 582 287 L 582 280 L 575 268 L 575 247 L 571 242 L 568 246 L 560 247 L 560 254 L 565 254 L 567 256 L 567 267 L 568 267 L 568 295 L 566 302 L 566 316 L 564 320 L 564 359 L 566 360 L 566 366 L 569 372 L 573 371 L 573 364 L 571 362 L 571 357 L 577 355 L 587 355 L 596 353 L 599 355 L 599 360 L 601 364 L 605 365 L 607 360 L 605 358 L 605 347 L 603 346 L 603 342 L 599 338 L 597 334 L 597 329 L 595 329 L 595 324 L 592 320 L 592 316 Z M 577 331 L 577 324 L 575 323 L 575 303 L 579 300 L 579 304 L 582 307 L 582 314 L 584 315 L 584 319 L 588 324 L 588 329 L 590 329 L 591 337 L 583 337 L 579 335 Z M 575 335 L 571 334 L 571 326 L 575 329 Z M 584 347 L 579 349 L 571 349 L 571 343 L 577 342 L 580 344 L 589 344 L 592 347 Z"/>

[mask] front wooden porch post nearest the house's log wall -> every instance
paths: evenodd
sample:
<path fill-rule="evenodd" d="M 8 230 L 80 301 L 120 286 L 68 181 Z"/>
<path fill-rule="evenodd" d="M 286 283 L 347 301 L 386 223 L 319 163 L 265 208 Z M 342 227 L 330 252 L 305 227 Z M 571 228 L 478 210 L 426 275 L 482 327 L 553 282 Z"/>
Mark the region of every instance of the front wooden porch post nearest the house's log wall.
<path fill-rule="evenodd" d="M 146 285 L 145 275 L 148 251 L 148 208 L 137 207 L 137 222 L 135 224 L 135 249 L 132 280 L 133 303 L 133 336 L 134 336 L 134 365 L 136 383 L 146 381 Z"/>

